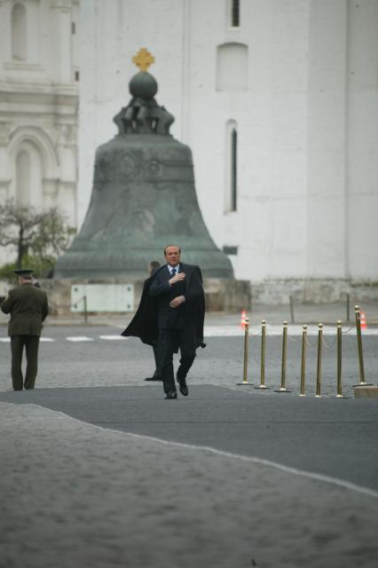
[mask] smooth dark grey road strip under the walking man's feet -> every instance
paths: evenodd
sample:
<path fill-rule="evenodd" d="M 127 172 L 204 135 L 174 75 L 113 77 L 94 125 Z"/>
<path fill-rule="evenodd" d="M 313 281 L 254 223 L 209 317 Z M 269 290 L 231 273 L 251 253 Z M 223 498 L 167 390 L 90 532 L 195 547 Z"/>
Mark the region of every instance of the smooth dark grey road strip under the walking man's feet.
<path fill-rule="evenodd" d="M 40 389 L 2 393 L 111 430 L 209 446 L 378 490 L 378 405 L 193 386 L 161 399 L 158 386 Z"/>

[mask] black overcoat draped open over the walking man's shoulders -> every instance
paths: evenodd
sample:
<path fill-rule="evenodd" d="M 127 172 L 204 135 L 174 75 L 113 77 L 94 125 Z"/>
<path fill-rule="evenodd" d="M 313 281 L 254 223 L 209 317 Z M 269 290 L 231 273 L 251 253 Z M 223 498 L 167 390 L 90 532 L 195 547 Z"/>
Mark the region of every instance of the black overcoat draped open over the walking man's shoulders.
<path fill-rule="evenodd" d="M 202 288 L 201 269 L 194 264 L 181 263 L 181 265 L 185 272 L 185 312 L 188 314 L 185 317 L 185 325 L 194 327 L 196 347 L 205 347 L 203 343 L 205 294 Z M 163 270 L 167 270 L 167 264 L 161 266 L 151 278 L 145 280 L 138 310 L 121 335 L 139 337 L 143 343 L 156 345 L 159 336 L 158 299 L 150 296 L 150 288 L 156 275 Z"/>

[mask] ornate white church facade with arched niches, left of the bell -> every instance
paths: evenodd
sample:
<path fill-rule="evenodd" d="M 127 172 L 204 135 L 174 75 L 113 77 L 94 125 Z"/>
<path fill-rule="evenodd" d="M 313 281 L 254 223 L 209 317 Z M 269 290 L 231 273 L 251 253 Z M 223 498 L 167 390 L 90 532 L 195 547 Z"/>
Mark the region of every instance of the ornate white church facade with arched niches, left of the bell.
<path fill-rule="evenodd" d="M 0 2 L 0 200 L 76 224 L 78 0 Z M 25 36 L 20 35 L 20 30 Z M 10 248 L 0 263 L 14 259 Z"/>

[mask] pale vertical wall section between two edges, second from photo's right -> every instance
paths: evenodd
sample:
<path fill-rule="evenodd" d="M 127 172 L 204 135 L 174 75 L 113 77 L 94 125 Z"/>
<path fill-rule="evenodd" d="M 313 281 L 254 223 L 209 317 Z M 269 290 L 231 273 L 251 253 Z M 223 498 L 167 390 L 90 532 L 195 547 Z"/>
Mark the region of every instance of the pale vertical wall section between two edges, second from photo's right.
<path fill-rule="evenodd" d="M 312 2 L 308 70 L 307 276 L 345 278 L 347 4 Z"/>

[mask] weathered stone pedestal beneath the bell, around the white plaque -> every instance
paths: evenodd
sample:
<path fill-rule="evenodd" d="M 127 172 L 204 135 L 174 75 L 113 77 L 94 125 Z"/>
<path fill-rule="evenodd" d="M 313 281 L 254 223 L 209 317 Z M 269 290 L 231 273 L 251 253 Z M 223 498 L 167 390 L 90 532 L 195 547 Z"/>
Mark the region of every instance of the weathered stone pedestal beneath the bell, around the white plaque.
<path fill-rule="evenodd" d="M 138 308 L 144 280 L 136 279 L 54 279 L 39 280 L 49 296 L 51 315 L 71 314 L 71 287 L 75 284 L 132 284 L 134 287 L 134 309 Z M 205 279 L 203 283 L 207 312 L 239 312 L 250 308 L 250 284 L 247 280 Z M 96 312 L 90 312 L 96 313 Z"/>

